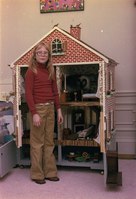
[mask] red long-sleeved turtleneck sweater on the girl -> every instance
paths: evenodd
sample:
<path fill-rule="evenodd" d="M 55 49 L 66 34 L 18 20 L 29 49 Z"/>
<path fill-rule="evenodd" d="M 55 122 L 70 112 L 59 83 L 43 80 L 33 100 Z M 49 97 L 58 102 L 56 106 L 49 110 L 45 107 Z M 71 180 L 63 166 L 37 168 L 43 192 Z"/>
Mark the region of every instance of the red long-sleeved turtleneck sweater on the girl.
<path fill-rule="evenodd" d="M 37 113 L 35 104 L 54 102 L 56 109 L 60 108 L 56 80 L 50 80 L 46 68 L 37 67 L 37 73 L 28 69 L 25 75 L 26 102 L 32 114 Z"/>

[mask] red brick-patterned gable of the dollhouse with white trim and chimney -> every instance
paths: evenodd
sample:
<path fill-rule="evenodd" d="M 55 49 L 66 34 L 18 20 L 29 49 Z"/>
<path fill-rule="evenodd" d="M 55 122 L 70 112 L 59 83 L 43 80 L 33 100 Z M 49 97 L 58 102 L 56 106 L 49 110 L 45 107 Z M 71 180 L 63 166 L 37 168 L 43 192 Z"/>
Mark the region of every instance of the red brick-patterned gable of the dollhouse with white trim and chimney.
<path fill-rule="evenodd" d="M 26 52 L 24 52 L 20 57 L 11 63 L 11 68 L 15 65 L 28 65 L 30 56 L 33 52 L 34 47 L 40 43 L 45 42 L 51 44 L 56 38 L 65 43 L 64 54 L 54 54 L 52 56 L 52 61 L 54 65 L 68 65 L 68 64 L 89 64 L 89 63 L 99 63 L 104 61 L 106 63 L 117 63 L 108 58 L 98 50 L 89 46 L 82 40 L 80 40 L 81 28 L 79 25 L 70 27 L 70 33 L 59 28 L 57 25 L 52 28 L 44 37 L 37 41 L 33 46 L 31 46 Z"/>

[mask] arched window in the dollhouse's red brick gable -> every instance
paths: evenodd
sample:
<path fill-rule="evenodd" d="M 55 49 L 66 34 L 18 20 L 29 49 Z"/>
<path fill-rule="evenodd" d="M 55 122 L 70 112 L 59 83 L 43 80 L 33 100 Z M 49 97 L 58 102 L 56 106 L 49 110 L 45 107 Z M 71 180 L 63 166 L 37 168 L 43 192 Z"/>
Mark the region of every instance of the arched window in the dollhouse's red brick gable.
<path fill-rule="evenodd" d="M 64 43 L 60 39 L 54 39 L 52 41 L 52 54 L 64 54 Z"/>

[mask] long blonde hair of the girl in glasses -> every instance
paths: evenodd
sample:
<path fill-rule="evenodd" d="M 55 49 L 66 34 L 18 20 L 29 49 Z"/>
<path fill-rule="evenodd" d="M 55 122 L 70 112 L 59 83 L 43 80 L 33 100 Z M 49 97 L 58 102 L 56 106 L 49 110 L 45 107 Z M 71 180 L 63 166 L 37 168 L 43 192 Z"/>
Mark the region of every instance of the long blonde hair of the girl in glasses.
<path fill-rule="evenodd" d="M 29 68 L 34 73 L 37 73 L 36 51 L 37 51 L 37 49 L 39 49 L 41 47 L 44 47 L 48 51 L 48 61 L 45 63 L 45 66 L 47 67 L 47 70 L 49 72 L 49 79 L 54 80 L 55 74 L 54 74 L 54 67 L 52 65 L 51 50 L 49 48 L 49 45 L 45 44 L 44 42 L 41 42 L 41 43 L 37 44 L 36 47 L 34 48 L 32 56 L 30 58 Z"/>

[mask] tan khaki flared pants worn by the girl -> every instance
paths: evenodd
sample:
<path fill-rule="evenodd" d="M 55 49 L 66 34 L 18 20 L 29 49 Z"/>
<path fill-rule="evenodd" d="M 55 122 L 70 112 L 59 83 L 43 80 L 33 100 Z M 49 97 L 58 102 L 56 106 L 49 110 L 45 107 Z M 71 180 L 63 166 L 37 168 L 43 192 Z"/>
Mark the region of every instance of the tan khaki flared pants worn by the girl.
<path fill-rule="evenodd" d="M 30 156 L 31 179 L 44 179 L 57 176 L 54 149 L 54 105 L 36 105 L 38 114 L 42 119 L 40 127 L 32 124 L 30 114 Z"/>

